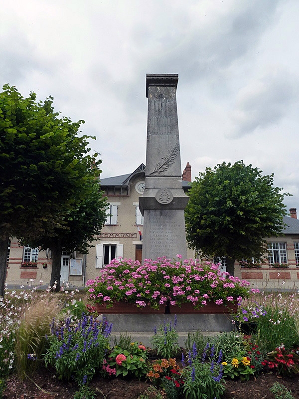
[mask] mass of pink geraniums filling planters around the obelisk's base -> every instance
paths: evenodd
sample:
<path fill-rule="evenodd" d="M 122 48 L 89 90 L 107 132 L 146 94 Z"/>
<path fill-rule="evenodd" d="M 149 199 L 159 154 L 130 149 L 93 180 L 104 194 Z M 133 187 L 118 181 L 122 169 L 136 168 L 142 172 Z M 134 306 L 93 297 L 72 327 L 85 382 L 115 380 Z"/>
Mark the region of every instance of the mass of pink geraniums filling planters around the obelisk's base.
<path fill-rule="evenodd" d="M 113 260 L 103 274 L 88 280 L 89 298 L 107 309 L 115 302 L 149 306 L 181 306 L 194 309 L 209 302 L 229 305 L 249 295 L 249 283 L 223 273 L 214 264 L 198 260 L 170 261 L 147 259 L 143 265 L 134 260 Z"/>

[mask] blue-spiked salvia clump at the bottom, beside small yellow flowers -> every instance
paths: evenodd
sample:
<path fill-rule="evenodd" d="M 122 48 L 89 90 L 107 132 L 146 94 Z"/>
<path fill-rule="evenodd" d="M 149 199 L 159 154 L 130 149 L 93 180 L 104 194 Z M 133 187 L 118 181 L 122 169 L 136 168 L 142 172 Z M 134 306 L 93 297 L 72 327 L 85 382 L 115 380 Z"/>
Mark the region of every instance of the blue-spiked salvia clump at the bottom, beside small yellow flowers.
<path fill-rule="evenodd" d="M 186 399 L 220 399 L 225 392 L 221 381 L 223 378 L 222 356 L 220 355 L 216 360 L 213 347 L 209 361 L 206 361 L 206 356 L 205 351 L 203 358 L 200 359 L 195 347 L 193 353 L 189 352 L 188 365 L 182 373 L 184 380 L 182 391 Z"/>

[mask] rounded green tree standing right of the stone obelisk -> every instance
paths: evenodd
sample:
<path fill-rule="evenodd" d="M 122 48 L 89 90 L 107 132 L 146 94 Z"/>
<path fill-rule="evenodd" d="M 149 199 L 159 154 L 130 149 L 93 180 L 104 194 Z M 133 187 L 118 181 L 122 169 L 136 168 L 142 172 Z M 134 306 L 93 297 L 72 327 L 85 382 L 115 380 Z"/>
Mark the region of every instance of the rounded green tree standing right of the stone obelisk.
<path fill-rule="evenodd" d="M 273 174 L 243 161 L 206 168 L 191 185 L 185 209 L 186 238 L 204 256 L 226 256 L 234 274 L 235 259 L 261 258 L 265 237 L 281 235 L 286 214 L 282 189 Z"/>

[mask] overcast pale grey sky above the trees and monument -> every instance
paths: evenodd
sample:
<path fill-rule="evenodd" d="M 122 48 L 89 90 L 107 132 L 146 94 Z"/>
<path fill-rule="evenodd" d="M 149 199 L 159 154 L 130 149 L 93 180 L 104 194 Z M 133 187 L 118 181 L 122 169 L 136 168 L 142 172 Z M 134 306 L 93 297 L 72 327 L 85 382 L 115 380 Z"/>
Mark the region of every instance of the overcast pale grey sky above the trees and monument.
<path fill-rule="evenodd" d="M 298 20 L 298 0 L 5 1 L 0 87 L 85 120 L 108 177 L 146 163 L 146 74 L 178 73 L 182 169 L 244 160 L 299 208 Z"/>

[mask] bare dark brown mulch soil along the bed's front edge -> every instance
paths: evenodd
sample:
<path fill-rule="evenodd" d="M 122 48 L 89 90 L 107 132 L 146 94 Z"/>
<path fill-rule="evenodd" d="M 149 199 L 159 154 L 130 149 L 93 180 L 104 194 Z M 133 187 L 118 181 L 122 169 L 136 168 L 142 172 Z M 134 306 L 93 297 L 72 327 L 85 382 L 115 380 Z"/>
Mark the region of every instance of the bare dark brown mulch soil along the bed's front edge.
<path fill-rule="evenodd" d="M 269 388 L 279 382 L 292 391 L 294 398 L 299 399 L 299 376 L 292 379 L 278 378 L 275 374 L 262 374 L 248 382 L 227 380 L 226 394 L 223 399 L 275 399 Z M 99 399 L 137 399 L 145 393 L 149 384 L 136 380 L 95 378 L 90 384 Z M 20 382 L 11 376 L 3 393 L 3 399 L 73 399 L 77 391 L 75 384 L 60 382 L 51 370 L 38 370 L 32 380 Z"/>

